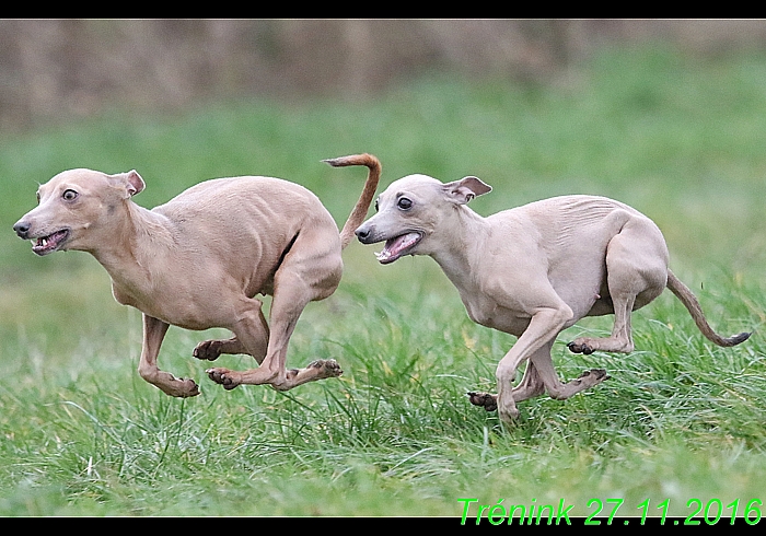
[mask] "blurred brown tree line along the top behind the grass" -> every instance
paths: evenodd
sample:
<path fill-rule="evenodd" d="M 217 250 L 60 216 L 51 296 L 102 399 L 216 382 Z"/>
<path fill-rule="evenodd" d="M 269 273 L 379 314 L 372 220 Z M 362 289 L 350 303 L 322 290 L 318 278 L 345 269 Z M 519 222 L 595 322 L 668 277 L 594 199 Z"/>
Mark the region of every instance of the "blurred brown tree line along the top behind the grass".
<path fill-rule="evenodd" d="M 0 128 L 104 105 L 370 95 L 430 70 L 549 81 L 610 44 L 766 44 L 750 20 L 0 20 Z"/>

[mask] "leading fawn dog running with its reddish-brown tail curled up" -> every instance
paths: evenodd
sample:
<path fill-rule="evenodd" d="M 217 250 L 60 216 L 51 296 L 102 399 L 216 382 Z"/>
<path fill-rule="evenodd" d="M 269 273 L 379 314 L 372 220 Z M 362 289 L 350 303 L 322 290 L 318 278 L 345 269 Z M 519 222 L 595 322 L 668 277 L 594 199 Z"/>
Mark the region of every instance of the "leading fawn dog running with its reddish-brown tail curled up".
<path fill-rule="evenodd" d="M 306 304 L 338 287 L 341 249 L 364 220 L 381 174 L 380 162 L 370 154 L 325 162 L 369 168 L 340 232 L 314 194 L 279 178 L 206 180 L 147 210 L 131 199 L 144 188 L 136 171 L 107 175 L 84 168 L 65 171 L 42 185 L 38 206 L 13 229 L 32 240 L 37 255 L 77 249 L 101 263 L 117 302 L 143 313 L 139 374 L 167 395 L 199 394 L 193 380 L 158 368 L 170 325 L 233 333 L 230 339 L 197 345 L 197 359 L 212 361 L 221 353 L 255 358 L 259 366 L 253 370 L 209 369 L 210 380 L 224 388 L 269 384 L 287 391 L 343 373 L 332 359 L 287 370 L 287 347 Z M 257 294 L 272 296 L 269 323 Z"/>

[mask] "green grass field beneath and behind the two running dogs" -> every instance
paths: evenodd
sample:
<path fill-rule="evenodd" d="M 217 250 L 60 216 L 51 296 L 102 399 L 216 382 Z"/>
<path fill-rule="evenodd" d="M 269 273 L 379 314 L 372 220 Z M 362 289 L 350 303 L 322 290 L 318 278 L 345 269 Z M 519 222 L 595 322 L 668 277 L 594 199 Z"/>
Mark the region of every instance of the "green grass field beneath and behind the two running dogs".
<path fill-rule="evenodd" d="M 564 501 L 571 516 L 594 513 L 594 499 L 602 515 L 624 500 L 619 516 L 641 504 L 660 515 L 670 500 L 686 516 L 697 499 L 719 523 L 739 501 L 742 515 L 766 501 L 765 80 L 766 56 L 648 47 L 604 53 L 548 86 L 432 74 L 373 101 L 115 109 L 2 135 L 0 515 L 460 517 L 462 499 L 476 499 L 471 523 L 500 500 Z M 559 374 L 603 366 L 611 380 L 521 403 L 508 430 L 465 393 L 494 389 L 514 338 L 473 324 L 431 259 L 383 267 L 355 243 L 288 356 L 335 358 L 343 377 L 224 392 L 190 356 L 221 331 L 172 328 L 160 366 L 201 387 L 173 399 L 138 376 L 140 314 L 113 300 L 97 263 L 38 258 L 11 231 L 37 183 L 70 167 L 138 170 L 146 207 L 206 178 L 279 176 L 343 223 L 364 171 L 320 161 L 363 151 L 381 159 L 382 186 L 416 172 L 480 177 L 494 187 L 473 201 L 483 214 L 560 194 L 625 201 L 663 230 L 715 328 L 755 333 L 717 348 L 666 292 L 634 315 L 631 354 L 571 354 L 567 341 L 611 329 L 612 317 L 582 321 L 554 348 Z M 764 509 L 751 505 L 753 521 Z"/>

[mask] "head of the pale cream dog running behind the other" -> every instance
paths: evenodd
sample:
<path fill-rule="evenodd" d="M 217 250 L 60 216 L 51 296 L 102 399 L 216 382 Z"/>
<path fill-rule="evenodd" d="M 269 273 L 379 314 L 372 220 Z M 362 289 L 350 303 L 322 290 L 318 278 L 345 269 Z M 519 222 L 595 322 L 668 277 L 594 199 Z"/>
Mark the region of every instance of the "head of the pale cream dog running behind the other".
<path fill-rule="evenodd" d="M 405 255 L 429 255 L 429 240 L 474 197 L 491 191 L 491 187 L 468 176 L 453 183 L 441 183 L 427 175 L 408 175 L 395 180 L 375 201 L 378 213 L 362 223 L 356 234 L 362 244 L 385 241 L 379 254 L 381 264 L 390 264 Z"/>

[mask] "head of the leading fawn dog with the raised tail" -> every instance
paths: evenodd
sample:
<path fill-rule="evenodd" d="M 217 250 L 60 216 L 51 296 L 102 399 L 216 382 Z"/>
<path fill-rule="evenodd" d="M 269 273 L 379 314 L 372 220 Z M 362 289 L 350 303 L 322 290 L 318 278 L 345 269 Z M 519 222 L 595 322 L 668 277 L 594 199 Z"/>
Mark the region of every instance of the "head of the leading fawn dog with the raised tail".
<path fill-rule="evenodd" d="M 108 240 L 97 236 L 97 231 L 143 187 L 136 171 L 117 175 L 84 168 L 61 172 L 37 189 L 37 207 L 24 214 L 13 230 L 19 237 L 32 241 L 32 250 L 37 255 L 89 250 L 97 241 Z"/>

